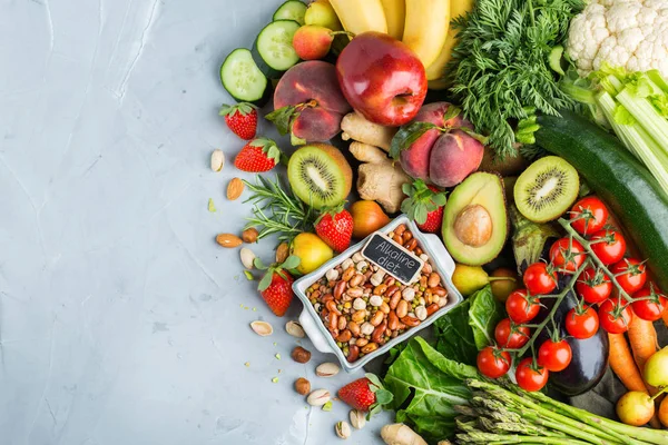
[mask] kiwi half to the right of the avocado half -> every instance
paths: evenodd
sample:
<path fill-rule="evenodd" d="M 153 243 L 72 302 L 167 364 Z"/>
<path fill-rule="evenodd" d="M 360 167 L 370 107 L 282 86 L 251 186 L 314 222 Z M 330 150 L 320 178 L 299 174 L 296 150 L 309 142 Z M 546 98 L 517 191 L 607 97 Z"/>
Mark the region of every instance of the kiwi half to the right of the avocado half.
<path fill-rule="evenodd" d="M 578 171 L 557 156 L 533 162 L 518 178 L 513 196 L 520 212 L 533 222 L 563 215 L 578 197 Z"/>

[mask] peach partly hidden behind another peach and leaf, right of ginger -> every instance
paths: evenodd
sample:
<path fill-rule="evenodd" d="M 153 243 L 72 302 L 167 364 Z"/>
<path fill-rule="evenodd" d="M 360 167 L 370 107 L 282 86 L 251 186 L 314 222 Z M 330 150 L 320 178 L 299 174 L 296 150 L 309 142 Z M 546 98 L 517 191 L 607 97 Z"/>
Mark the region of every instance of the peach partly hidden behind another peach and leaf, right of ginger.
<path fill-rule="evenodd" d="M 443 116 L 450 106 L 449 102 L 428 103 L 415 115 L 413 122 L 430 122 L 439 127 L 472 127 L 470 122 L 463 120 L 460 116 L 443 121 Z M 401 166 L 406 174 L 416 179 L 429 179 L 431 150 L 439 136 L 441 136 L 440 130 L 428 130 L 411 145 L 410 149 L 401 152 Z"/>

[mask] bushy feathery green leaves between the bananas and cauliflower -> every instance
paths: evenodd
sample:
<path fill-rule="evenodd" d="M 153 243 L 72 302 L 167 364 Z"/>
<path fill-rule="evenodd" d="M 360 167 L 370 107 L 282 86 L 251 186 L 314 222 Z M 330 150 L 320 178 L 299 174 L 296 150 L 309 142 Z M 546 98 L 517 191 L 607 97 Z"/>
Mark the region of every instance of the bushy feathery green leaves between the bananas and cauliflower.
<path fill-rule="evenodd" d="M 451 91 L 501 159 L 517 154 L 512 126 L 528 117 L 524 107 L 553 116 L 576 107 L 550 61 L 554 66 L 552 49 L 582 7 L 581 0 L 478 0 L 453 21 L 459 33 Z"/>

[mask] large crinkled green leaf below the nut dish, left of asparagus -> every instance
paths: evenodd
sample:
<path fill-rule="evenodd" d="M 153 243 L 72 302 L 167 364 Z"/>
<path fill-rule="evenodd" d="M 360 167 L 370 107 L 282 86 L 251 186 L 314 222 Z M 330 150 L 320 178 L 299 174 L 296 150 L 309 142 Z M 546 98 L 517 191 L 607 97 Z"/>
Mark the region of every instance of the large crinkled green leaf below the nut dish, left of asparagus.
<path fill-rule="evenodd" d="M 415 337 L 392 364 L 384 382 L 394 394 L 396 421 L 414 425 L 425 439 L 436 442 L 454 432 L 459 414 L 453 407 L 471 398 L 463 379 L 477 376 L 474 367 L 445 358 Z"/>

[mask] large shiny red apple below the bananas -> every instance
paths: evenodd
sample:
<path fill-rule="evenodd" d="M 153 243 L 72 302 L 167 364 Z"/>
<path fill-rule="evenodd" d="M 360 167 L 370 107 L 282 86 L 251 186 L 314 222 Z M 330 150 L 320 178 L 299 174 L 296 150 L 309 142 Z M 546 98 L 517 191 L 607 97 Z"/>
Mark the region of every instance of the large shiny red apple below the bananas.
<path fill-rule="evenodd" d="M 357 34 L 338 56 L 336 73 L 355 111 L 384 126 L 411 121 L 426 96 L 426 75 L 418 56 L 382 32 Z"/>

